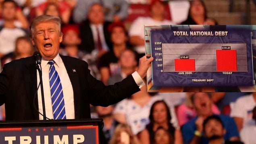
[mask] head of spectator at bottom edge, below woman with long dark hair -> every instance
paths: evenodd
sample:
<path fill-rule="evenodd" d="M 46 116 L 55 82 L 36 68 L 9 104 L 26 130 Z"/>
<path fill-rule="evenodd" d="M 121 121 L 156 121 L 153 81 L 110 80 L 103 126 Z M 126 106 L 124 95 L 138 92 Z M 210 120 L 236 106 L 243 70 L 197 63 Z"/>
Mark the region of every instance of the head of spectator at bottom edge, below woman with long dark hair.
<path fill-rule="evenodd" d="M 156 129 L 154 140 L 154 144 L 173 144 L 171 133 L 161 126 Z"/>

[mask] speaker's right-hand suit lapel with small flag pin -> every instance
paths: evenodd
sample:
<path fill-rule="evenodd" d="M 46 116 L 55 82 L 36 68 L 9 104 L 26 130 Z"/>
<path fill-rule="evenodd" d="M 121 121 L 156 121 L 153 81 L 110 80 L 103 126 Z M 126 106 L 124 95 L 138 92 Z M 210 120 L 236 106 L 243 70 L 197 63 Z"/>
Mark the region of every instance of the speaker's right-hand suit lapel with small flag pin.
<path fill-rule="evenodd" d="M 75 118 L 80 117 L 80 84 L 79 84 L 79 76 L 76 72 L 76 67 L 74 67 L 74 64 L 69 62 L 65 56 L 61 56 L 61 59 L 65 65 L 65 68 L 67 70 L 67 73 L 69 75 L 69 79 L 72 84 L 73 93 L 74 93 L 74 107 L 75 107 Z"/>

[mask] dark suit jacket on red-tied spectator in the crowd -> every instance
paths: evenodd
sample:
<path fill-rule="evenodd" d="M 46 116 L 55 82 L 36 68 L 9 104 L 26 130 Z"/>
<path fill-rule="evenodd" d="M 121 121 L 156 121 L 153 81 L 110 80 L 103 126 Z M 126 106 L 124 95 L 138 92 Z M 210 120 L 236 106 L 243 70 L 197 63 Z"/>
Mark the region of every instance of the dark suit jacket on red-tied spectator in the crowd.
<path fill-rule="evenodd" d="M 108 32 L 109 24 L 110 24 L 110 22 L 103 23 L 103 32 L 104 32 L 104 37 L 105 37 L 106 44 L 108 45 L 108 48 L 112 49 L 110 33 Z M 95 49 L 95 45 L 94 45 L 94 39 L 93 39 L 92 29 L 90 27 L 89 20 L 86 20 L 80 24 L 79 32 L 80 32 L 80 38 L 81 38 L 81 44 L 80 44 L 79 48 L 83 51 L 91 53 L 92 50 Z"/>

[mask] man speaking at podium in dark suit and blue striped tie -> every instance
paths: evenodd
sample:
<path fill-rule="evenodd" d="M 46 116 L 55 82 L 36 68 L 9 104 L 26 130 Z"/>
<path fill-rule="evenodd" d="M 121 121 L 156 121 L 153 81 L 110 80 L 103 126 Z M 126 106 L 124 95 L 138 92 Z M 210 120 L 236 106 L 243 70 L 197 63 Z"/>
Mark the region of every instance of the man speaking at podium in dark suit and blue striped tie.
<path fill-rule="evenodd" d="M 50 119 L 90 118 L 92 105 L 108 106 L 139 91 L 153 58 L 139 61 L 132 75 L 114 85 L 96 80 L 86 62 L 58 54 L 62 41 L 58 17 L 42 15 L 30 26 L 31 41 L 42 55 L 42 81 L 46 117 Z M 33 56 L 4 65 L 0 74 L 0 105 L 5 103 L 6 120 L 43 119 L 40 82 Z M 37 95 L 36 95 L 37 94 Z"/>

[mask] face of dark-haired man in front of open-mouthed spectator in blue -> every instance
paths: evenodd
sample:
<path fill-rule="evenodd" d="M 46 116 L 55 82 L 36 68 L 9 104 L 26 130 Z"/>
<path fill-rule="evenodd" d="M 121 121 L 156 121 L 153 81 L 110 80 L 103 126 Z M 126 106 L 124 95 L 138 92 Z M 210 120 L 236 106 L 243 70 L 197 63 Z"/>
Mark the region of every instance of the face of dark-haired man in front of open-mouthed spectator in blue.
<path fill-rule="evenodd" d="M 204 128 L 206 138 L 221 138 L 225 135 L 226 130 L 221 125 L 221 122 L 216 119 L 210 119 Z"/>

